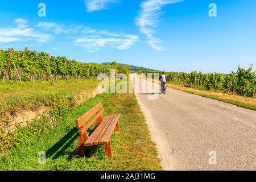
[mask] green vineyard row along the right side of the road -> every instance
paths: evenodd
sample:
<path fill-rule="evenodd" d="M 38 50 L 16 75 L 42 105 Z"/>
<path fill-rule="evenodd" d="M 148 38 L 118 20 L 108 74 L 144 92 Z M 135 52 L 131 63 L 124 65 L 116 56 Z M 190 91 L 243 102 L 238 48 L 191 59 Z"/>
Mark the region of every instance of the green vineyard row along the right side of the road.
<path fill-rule="evenodd" d="M 139 73 L 159 73 L 158 71 L 139 71 Z M 166 72 L 167 82 L 170 84 L 184 85 L 199 90 L 209 90 L 214 92 L 232 93 L 240 96 L 255 97 L 256 74 L 253 65 L 249 69 L 238 66 L 237 72 L 229 75 L 221 73 L 176 73 Z"/>

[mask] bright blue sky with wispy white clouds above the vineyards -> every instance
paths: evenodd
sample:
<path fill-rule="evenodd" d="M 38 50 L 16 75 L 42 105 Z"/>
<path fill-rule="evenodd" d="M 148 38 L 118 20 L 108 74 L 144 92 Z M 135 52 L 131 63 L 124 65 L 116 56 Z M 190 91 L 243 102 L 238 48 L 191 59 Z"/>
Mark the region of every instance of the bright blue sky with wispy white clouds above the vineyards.
<path fill-rule="evenodd" d="M 210 3 L 217 17 L 208 15 Z M 256 67 L 253 0 L 14 0 L 0 1 L 0 17 L 2 49 L 176 72 Z"/>

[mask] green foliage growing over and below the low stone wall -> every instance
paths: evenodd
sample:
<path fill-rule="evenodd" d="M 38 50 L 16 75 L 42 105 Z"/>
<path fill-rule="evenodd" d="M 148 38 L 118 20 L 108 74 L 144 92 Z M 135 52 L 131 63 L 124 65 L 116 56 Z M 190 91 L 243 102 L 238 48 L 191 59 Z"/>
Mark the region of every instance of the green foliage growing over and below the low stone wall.
<path fill-rule="evenodd" d="M 47 94 L 35 93 L 26 97 L 11 97 L 7 100 L 1 100 L 3 106 L 7 106 L 8 108 L 3 108 L 1 106 L 0 115 L 5 113 L 6 109 L 9 109 L 10 113 L 14 113 L 17 109 L 16 105 L 19 105 L 22 109 L 35 109 L 36 106 L 48 106 L 50 110 L 50 114 L 54 115 L 55 118 L 61 119 L 61 117 L 67 113 L 72 107 L 75 106 L 75 98 L 70 94 L 65 92 L 51 92 Z M 4 123 L 1 119 L 1 123 Z M 8 125 L 9 121 L 5 121 L 6 125 Z M 5 151 L 7 148 L 13 147 L 15 140 L 16 143 L 21 142 L 30 142 L 30 138 L 36 137 L 41 131 L 47 129 L 49 124 L 49 119 L 40 126 L 37 125 L 37 122 L 32 124 L 30 127 L 26 127 L 26 129 L 17 130 L 14 134 L 10 134 L 6 127 L 2 127 L 0 129 L 0 152 Z"/>

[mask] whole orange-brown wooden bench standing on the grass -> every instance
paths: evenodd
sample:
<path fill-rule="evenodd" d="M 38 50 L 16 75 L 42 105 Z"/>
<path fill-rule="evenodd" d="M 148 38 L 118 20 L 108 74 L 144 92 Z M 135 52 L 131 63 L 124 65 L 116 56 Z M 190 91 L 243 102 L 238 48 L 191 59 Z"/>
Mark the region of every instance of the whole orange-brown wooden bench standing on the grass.
<path fill-rule="evenodd" d="M 102 107 L 103 105 L 100 102 L 76 119 L 76 127 L 80 134 L 76 151 L 77 156 L 82 157 L 84 155 L 84 147 L 103 145 L 106 156 L 109 159 L 113 158 L 110 138 L 114 130 L 120 133 L 119 115 L 109 115 L 103 118 L 104 109 Z M 96 122 L 94 131 L 89 136 L 87 130 L 94 122 Z"/>

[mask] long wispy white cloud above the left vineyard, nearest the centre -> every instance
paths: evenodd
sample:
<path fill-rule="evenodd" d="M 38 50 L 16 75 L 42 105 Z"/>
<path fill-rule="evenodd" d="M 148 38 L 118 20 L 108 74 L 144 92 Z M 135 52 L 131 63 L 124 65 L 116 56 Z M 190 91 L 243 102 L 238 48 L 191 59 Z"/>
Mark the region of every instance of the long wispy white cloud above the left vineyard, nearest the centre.
<path fill-rule="evenodd" d="M 68 34 L 67 38 L 73 39 L 74 45 L 82 46 L 88 52 L 96 52 L 105 47 L 125 50 L 133 46 L 138 40 L 137 35 L 95 30 L 84 25 L 65 27 L 63 24 L 53 22 L 39 22 L 37 26 L 55 34 Z"/>

